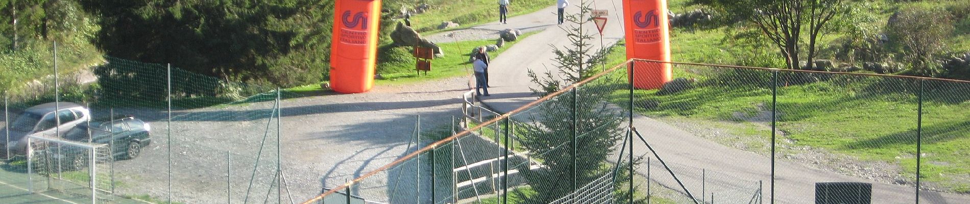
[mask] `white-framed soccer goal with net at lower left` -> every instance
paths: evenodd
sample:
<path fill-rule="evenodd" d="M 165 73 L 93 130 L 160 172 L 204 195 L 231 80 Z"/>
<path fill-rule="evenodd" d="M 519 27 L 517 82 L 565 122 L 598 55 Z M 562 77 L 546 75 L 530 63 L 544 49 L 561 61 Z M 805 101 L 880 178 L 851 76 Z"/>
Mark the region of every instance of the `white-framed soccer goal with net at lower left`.
<path fill-rule="evenodd" d="M 113 155 L 109 144 L 70 141 L 56 136 L 28 137 L 27 175 L 31 192 L 49 190 L 111 201 L 114 195 Z"/>

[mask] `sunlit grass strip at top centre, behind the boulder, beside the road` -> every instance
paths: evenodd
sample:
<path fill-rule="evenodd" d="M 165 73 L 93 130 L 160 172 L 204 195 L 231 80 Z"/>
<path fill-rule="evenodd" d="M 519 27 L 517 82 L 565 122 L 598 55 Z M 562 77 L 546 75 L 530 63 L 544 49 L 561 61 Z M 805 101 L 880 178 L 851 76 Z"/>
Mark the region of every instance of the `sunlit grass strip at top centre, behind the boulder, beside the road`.
<path fill-rule="evenodd" d="M 440 32 L 437 26 L 442 21 L 459 23 L 461 26 L 457 29 L 461 29 L 499 20 L 498 0 L 427 0 L 424 2 L 431 5 L 432 9 L 425 14 L 411 16 L 412 27 L 422 35 Z M 508 6 L 509 17 L 530 14 L 556 4 L 555 0 L 510 0 L 509 2 L 511 2 Z M 549 17 L 553 15 L 550 14 Z"/>

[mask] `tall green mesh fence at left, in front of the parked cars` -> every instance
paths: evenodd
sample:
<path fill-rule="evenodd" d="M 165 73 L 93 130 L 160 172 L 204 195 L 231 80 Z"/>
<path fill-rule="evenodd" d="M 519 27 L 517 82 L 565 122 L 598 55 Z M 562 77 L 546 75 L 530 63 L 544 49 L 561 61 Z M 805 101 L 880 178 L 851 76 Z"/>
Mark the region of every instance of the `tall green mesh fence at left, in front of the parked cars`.
<path fill-rule="evenodd" d="M 296 201 L 277 101 L 293 93 L 106 59 L 67 74 L 55 59 L 49 77 L 5 90 L 0 182 L 13 190 L 0 202 Z"/>

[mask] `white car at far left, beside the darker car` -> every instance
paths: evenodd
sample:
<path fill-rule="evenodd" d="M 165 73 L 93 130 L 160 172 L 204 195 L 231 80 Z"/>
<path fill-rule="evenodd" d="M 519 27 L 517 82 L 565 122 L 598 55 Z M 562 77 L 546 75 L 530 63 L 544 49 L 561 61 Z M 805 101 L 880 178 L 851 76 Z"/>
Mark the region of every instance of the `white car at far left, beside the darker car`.
<path fill-rule="evenodd" d="M 24 110 L 13 123 L 8 124 L 10 135 L 0 131 L 2 135 L 0 147 L 10 150 L 12 155 L 24 155 L 27 150 L 28 135 L 58 135 L 58 131 L 59 133 L 71 131 L 79 124 L 90 120 L 90 115 L 91 112 L 87 107 L 74 102 L 48 102 L 35 105 Z M 0 154 L 7 154 L 7 151 L 0 151 Z"/>

